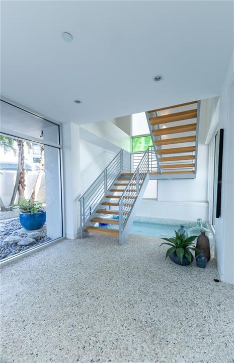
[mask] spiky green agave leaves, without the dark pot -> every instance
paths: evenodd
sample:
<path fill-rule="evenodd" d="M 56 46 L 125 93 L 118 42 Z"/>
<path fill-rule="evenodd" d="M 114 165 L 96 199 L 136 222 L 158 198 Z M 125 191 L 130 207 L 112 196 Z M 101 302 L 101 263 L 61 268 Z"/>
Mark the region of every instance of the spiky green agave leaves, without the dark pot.
<path fill-rule="evenodd" d="M 190 250 L 195 251 L 195 252 L 199 252 L 200 250 L 198 250 L 195 245 L 192 243 L 193 240 L 195 238 L 197 238 L 197 236 L 193 235 L 190 236 L 188 238 L 185 238 L 184 233 L 179 234 L 177 233 L 177 231 L 175 231 L 176 236 L 175 237 L 171 237 L 171 238 L 163 238 L 165 239 L 167 242 L 163 242 L 160 246 L 162 245 L 168 245 L 171 246 L 170 249 L 168 249 L 167 253 L 166 253 L 166 258 L 171 255 L 172 253 L 176 253 L 176 255 L 178 256 L 181 264 L 183 261 L 183 257 L 187 257 L 187 259 L 189 260 L 189 262 L 192 262 L 192 253 L 190 252 Z"/>

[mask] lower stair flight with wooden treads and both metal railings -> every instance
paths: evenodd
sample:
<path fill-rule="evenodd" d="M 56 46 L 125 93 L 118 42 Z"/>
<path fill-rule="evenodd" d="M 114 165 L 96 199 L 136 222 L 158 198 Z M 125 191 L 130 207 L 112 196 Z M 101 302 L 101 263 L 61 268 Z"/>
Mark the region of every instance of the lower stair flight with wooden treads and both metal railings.
<path fill-rule="evenodd" d="M 81 238 L 95 233 L 116 237 L 119 245 L 125 242 L 148 184 L 149 155 L 147 149 L 131 172 L 131 154 L 121 150 L 83 194 L 79 200 Z"/>

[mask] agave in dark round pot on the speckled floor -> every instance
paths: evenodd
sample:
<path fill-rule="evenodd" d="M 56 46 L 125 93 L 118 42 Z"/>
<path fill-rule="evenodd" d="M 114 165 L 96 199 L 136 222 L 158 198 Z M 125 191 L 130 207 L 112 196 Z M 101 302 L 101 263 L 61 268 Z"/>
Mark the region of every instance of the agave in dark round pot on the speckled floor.
<path fill-rule="evenodd" d="M 198 250 L 193 243 L 197 236 L 192 235 L 185 238 L 184 233 L 179 234 L 177 231 L 175 231 L 175 233 L 175 237 L 163 238 L 167 242 L 163 242 L 160 246 L 170 246 L 166 253 L 166 258 L 169 256 L 169 258 L 178 265 L 190 265 L 193 262 L 193 255 L 191 251 L 200 252 L 200 250 Z"/>

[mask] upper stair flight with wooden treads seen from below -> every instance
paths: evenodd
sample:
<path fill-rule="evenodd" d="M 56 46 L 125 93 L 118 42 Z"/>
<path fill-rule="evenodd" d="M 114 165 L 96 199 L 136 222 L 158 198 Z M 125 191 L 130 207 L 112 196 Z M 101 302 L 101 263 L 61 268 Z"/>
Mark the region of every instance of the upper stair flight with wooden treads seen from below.
<path fill-rule="evenodd" d="M 195 178 L 200 102 L 145 112 L 157 158 L 155 178 Z"/>

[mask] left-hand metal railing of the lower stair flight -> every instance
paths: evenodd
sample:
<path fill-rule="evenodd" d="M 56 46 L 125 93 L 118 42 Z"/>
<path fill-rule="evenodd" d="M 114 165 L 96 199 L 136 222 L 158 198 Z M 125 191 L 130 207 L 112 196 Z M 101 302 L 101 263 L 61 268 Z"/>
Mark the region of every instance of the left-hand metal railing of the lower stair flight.
<path fill-rule="evenodd" d="M 129 159 L 129 160 L 128 160 Z M 81 238 L 83 237 L 83 228 L 89 220 L 91 214 L 98 206 L 100 200 L 107 193 L 108 189 L 113 184 L 116 177 L 121 171 L 130 171 L 131 169 L 131 154 L 125 150 L 120 152 L 101 172 L 94 183 L 80 197 L 80 228 Z"/>

